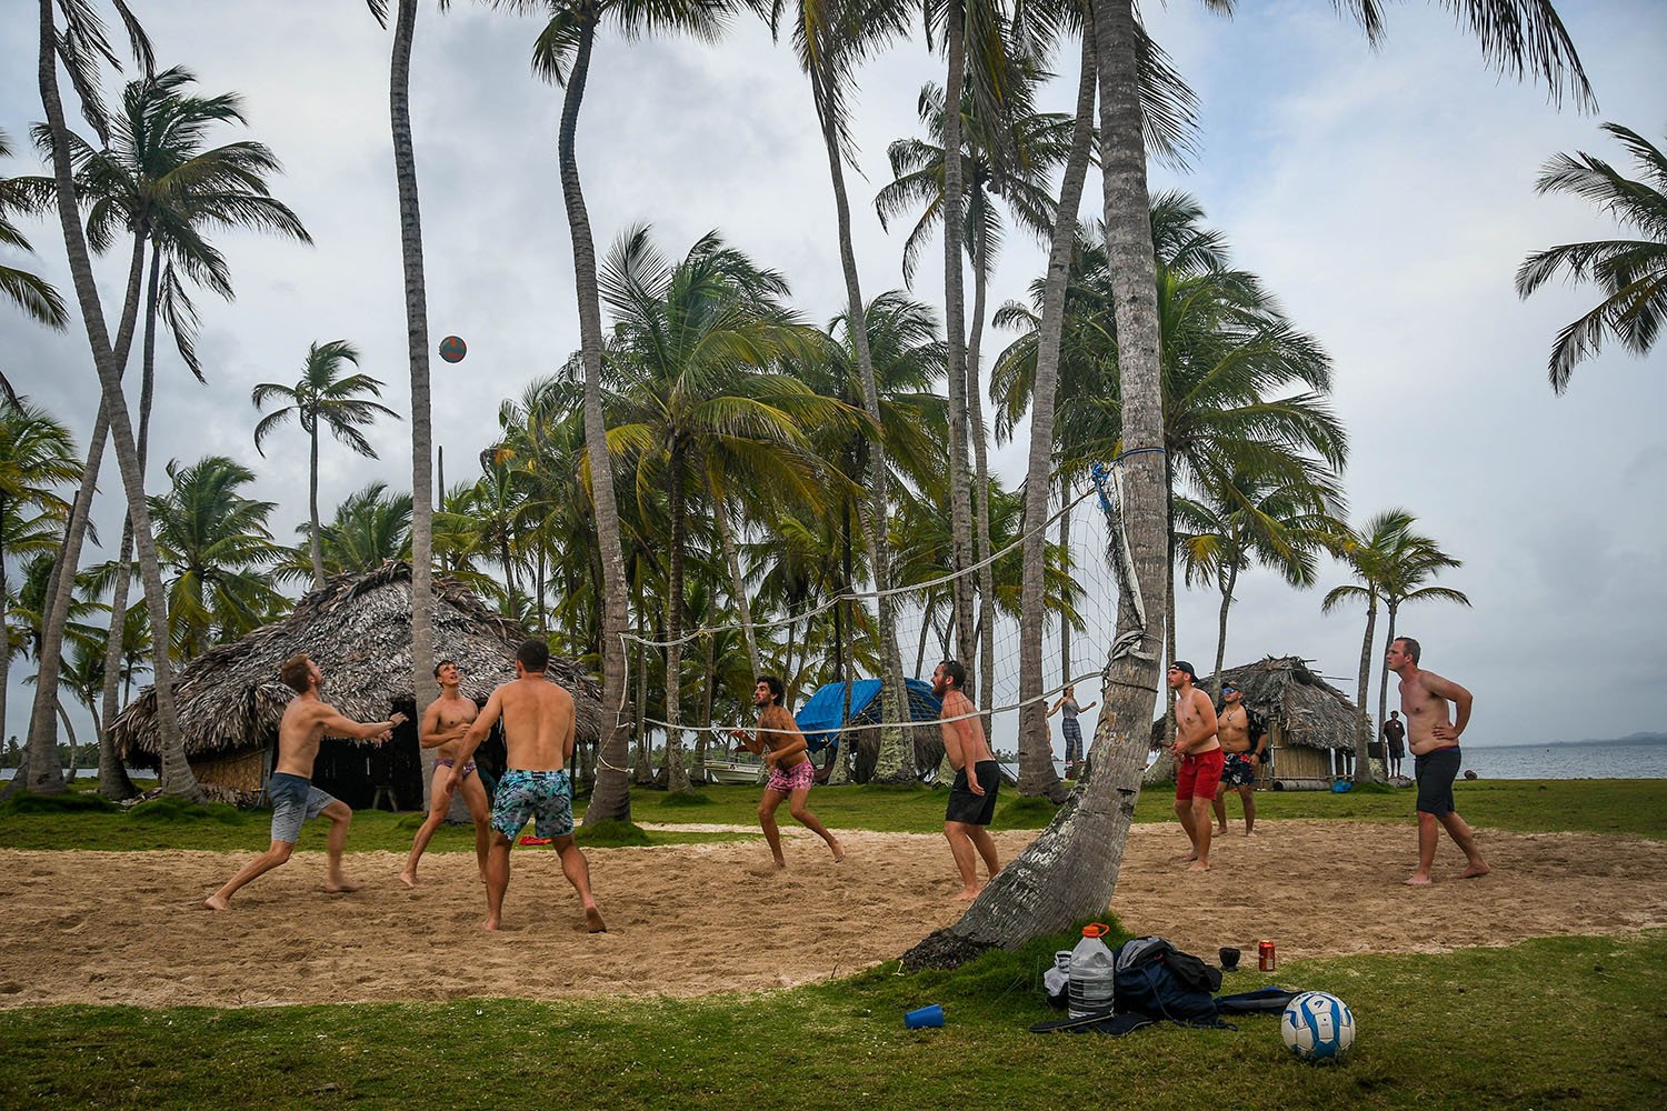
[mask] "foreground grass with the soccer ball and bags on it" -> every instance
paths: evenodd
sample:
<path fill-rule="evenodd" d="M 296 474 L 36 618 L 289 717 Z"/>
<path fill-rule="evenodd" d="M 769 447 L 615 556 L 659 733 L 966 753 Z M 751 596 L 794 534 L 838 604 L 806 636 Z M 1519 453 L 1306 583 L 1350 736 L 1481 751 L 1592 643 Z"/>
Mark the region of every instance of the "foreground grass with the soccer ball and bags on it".
<path fill-rule="evenodd" d="M 954 971 L 765 994 L 562 1003 L 0 1011 L 0 1104 L 30 1108 L 1645 1108 L 1667 931 L 1502 949 L 1294 961 L 1359 1036 L 1340 1068 L 1287 1054 L 1274 1016 L 1122 1039 L 1030 1034 L 1065 934 Z M 1270 978 L 1235 973 L 1225 989 Z M 944 1006 L 942 1029 L 905 1009 Z M 783 1076 L 790 1083 L 783 1083 Z M 532 1088 L 528 1088 L 532 1084 Z"/>

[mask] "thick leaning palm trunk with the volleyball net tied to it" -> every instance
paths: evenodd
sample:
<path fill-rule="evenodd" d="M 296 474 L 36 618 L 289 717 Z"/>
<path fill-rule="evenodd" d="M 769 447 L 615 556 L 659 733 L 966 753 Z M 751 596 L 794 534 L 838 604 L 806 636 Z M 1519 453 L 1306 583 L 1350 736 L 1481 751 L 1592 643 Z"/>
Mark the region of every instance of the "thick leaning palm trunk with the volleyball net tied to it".
<path fill-rule="evenodd" d="M 1164 498 L 1162 385 L 1159 378 L 1157 277 L 1152 257 L 1145 147 L 1140 132 L 1135 20 L 1130 0 L 1094 8 L 1100 78 L 1100 165 L 1105 183 L 1107 257 L 1115 298 L 1119 370 L 1124 388 L 1120 568 L 1117 638 L 1094 735 L 1094 775 L 1067 800 L 1049 828 L 1009 863 L 967 908 L 967 914 L 905 956 L 972 956 L 990 946 L 1017 948 L 1060 933 L 1110 904 L 1140 798 L 1152 708 L 1157 698 L 1159 625 L 1167 605 L 1164 560 L 1169 520 Z"/>

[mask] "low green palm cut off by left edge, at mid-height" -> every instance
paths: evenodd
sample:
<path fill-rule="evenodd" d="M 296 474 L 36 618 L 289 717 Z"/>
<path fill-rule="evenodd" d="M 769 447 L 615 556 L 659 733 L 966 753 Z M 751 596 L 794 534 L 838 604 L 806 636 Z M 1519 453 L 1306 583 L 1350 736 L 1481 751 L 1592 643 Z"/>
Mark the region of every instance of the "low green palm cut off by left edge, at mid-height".
<path fill-rule="evenodd" d="M 70 503 L 57 486 L 82 476 L 70 430 L 25 398 L 0 398 L 0 610 L 10 610 L 8 558 L 53 553 Z M 0 625 L 0 721 L 5 721 L 12 628 Z"/>

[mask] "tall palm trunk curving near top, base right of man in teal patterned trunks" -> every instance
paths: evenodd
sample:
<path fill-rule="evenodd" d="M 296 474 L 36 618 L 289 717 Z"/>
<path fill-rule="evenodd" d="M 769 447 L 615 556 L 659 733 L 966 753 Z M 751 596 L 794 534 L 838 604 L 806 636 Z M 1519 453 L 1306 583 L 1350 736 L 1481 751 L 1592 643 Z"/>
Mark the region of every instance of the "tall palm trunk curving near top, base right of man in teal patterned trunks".
<path fill-rule="evenodd" d="M 613 496 L 613 466 L 608 461 L 607 421 L 602 415 L 602 305 L 597 293 L 597 248 L 590 240 L 590 215 L 578 182 L 573 140 L 578 107 L 585 98 L 590 52 L 597 23 L 592 15 L 578 30 L 578 48 L 567 73 L 562 98 L 558 162 L 567 227 L 573 242 L 573 286 L 578 298 L 578 350 L 585 363 L 585 456 L 590 463 L 590 496 L 597 510 L 597 543 L 602 548 L 602 743 L 597 756 L 597 790 L 585 810 L 585 825 L 630 821 L 630 733 L 625 710 L 625 558 L 620 555 L 620 515 Z"/>

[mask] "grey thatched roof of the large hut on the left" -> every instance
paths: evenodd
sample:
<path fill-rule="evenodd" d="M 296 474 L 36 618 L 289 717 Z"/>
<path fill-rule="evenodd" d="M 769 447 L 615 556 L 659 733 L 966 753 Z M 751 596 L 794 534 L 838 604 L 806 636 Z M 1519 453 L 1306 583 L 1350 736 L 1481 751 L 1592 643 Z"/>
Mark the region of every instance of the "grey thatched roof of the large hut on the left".
<path fill-rule="evenodd" d="M 465 586 L 435 578 L 435 660 L 453 660 L 465 698 L 483 701 L 515 676 L 522 628 L 493 613 Z M 293 691 L 278 666 L 298 651 L 323 671 L 323 698 L 355 721 L 407 710 L 412 693 L 410 565 L 385 563 L 368 575 L 337 575 L 300 601 L 288 618 L 192 660 L 173 680 L 185 755 L 203 756 L 265 745 Z M 578 736 L 602 733 L 602 691 L 575 663 L 550 660 L 548 676 L 573 695 Z M 123 760 L 157 758 L 157 695 L 142 691 L 110 725 Z"/>

